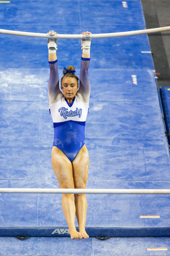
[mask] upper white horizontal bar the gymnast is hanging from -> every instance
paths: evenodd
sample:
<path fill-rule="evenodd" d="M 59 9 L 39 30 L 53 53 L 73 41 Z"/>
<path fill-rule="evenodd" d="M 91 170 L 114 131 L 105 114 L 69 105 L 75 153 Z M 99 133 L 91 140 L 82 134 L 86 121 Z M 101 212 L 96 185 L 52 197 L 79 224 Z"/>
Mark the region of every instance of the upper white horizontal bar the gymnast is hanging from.
<path fill-rule="evenodd" d="M 127 36 L 127 35 L 136 35 L 136 34 L 147 34 L 147 33 L 156 33 L 170 30 L 170 26 L 143 29 L 143 30 L 134 30 L 134 31 L 126 31 L 126 32 L 115 32 L 115 33 L 103 33 L 103 34 L 91 34 L 87 37 L 89 38 L 102 38 L 102 37 L 117 37 L 117 36 Z M 33 37 L 44 37 L 51 38 L 51 36 L 47 33 L 32 33 L 32 32 L 22 32 L 22 31 L 13 31 L 13 30 L 5 30 L 0 29 L 0 33 L 2 34 L 14 34 L 14 35 L 23 35 L 23 36 L 33 36 Z M 85 38 L 86 36 L 83 34 L 55 34 L 52 36 L 53 38 Z"/>

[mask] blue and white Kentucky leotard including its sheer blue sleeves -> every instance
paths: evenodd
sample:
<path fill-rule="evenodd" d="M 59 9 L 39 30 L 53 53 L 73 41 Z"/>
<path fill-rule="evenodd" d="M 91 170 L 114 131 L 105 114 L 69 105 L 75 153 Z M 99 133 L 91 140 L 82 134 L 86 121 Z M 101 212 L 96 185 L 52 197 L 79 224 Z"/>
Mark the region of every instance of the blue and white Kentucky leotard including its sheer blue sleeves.
<path fill-rule="evenodd" d="M 89 58 L 82 58 L 80 71 L 79 93 L 90 91 L 88 77 Z M 50 79 L 48 84 L 49 95 L 57 94 L 59 79 L 57 61 L 49 62 Z M 54 93 L 55 92 L 55 93 Z M 59 91 L 58 91 L 59 92 Z M 50 113 L 54 126 L 53 146 L 58 147 L 72 162 L 85 143 L 85 122 L 89 103 L 81 101 L 77 95 L 71 104 L 62 96 L 55 103 L 50 104 Z"/>

